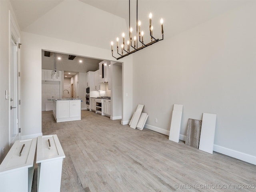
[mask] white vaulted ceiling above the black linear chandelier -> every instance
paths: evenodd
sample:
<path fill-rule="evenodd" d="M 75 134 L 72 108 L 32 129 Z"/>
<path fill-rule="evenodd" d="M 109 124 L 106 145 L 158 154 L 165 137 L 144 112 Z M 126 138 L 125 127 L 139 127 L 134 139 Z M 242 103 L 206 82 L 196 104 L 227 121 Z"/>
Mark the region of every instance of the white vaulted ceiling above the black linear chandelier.
<path fill-rule="evenodd" d="M 152 12 L 154 36 L 158 38 L 163 18 L 166 39 L 247 2 L 138 0 L 138 19 L 148 33 L 148 14 Z M 105 49 L 110 49 L 111 40 L 121 38 L 122 32 L 128 36 L 128 0 L 11 0 L 11 4 L 24 32 Z M 131 0 L 130 5 L 131 26 L 136 28 L 136 1 Z"/>

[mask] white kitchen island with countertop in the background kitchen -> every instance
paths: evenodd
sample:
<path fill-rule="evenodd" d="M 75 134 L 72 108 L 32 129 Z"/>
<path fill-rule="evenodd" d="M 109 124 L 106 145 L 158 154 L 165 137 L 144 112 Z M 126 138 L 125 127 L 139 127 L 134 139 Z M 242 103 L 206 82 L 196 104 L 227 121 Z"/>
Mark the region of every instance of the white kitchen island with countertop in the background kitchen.
<path fill-rule="evenodd" d="M 81 99 L 55 99 L 52 112 L 57 123 L 81 120 Z"/>

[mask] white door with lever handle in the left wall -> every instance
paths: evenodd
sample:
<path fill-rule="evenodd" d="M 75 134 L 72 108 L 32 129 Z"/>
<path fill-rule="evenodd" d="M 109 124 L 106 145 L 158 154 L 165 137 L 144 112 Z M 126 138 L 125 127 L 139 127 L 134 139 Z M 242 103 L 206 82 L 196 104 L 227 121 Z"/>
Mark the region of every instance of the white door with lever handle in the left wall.
<path fill-rule="evenodd" d="M 10 56 L 10 143 L 13 143 L 18 135 L 17 42 L 13 37 Z"/>

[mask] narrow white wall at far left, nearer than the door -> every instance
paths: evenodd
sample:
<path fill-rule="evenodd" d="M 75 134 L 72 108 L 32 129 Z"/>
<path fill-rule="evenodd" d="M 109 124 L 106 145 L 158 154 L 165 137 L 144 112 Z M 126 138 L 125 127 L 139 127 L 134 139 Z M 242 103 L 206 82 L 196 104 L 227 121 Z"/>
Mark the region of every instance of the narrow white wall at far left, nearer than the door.
<path fill-rule="evenodd" d="M 10 12 L 9 12 L 10 11 Z M 9 14 L 10 13 L 10 14 Z M 20 33 L 10 1 L 0 1 L 0 162 L 8 153 L 9 126 L 10 126 L 10 100 L 5 99 L 5 90 L 10 91 L 10 16 L 17 35 Z M 18 40 L 19 43 L 19 40 Z M 18 50 L 19 58 L 19 50 Z M 19 65 L 19 64 L 18 64 Z M 18 66 L 19 70 L 19 66 Z M 2 150 L 4 149 L 4 154 Z"/>

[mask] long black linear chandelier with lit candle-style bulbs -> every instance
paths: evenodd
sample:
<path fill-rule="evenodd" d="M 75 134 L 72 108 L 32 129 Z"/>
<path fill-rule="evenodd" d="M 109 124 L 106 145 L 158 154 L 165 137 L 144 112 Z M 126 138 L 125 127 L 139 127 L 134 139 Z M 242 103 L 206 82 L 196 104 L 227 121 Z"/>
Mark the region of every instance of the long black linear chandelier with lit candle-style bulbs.
<path fill-rule="evenodd" d="M 119 38 L 116 38 L 116 51 L 117 51 L 117 54 L 120 55 L 119 57 L 115 57 L 113 55 L 113 41 L 111 42 L 111 52 L 112 52 L 112 57 L 116 58 L 116 60 L 119 60 L 121 58 L 124 58 L 125 56 L 128 56 L 132 53 L 135 53 L 139 50 L 142 50 L 144 49 L 145 47 L 147 46 L 150 46 L 156 42 L 159 42 L 161 40 L 164 39 L 164 30 L 163 30 L 163 19 L 161 18 L 160 20 L 160 25 L 161 25 L 161 34 L 162 34 L 162 39 L 156 39 L 154 38 L 153 36 L 153 26 L 152 26 L 152 13 L 149 14 L 149 34 L 150 34 L 150 39 L 151 39 L 151 42 L 145 44 L 144 43 L 144 40 L 143 40 L 143 36 L 144 36 L 144 32 L 140 30 L 140 26 L 141 26 L 141 21 L 138 20 L 138 0 L 137 0 L 137 5 L 136 5 L 136 10 L 137 10 L 137 20 L 136 20 L 136 34 L 134 36 L 134 41 L 132 41 L 132 27 L 130 26 L 130 0 L 129 0 L 129 30 L 130 30 L 130 33 L 129 33 L 129 40 L 127 41 L 127 50 L 125 49 L 125 43 L 124 43 L 124 36 L 125 34 L 122 33 L 122 37 L 123 37 L 123 42 L 121 44 L 121 53 L 118 52 L 118 41 L 119 41 Z M 139 38 L 138 38 L 139 36 Z M 141 43 L 141 46 L 139 47 L 139 44 L 138 44 L 138 40 L 139 40 L 139 43 Z M 133 44 L 133 46 L 132 46 Z M 136 47 L 137 45 L 137 47 Z M 132 48 L 131 48 L 132 47 Z M 125 52 L 125 54 L 124 54 Z"/>

